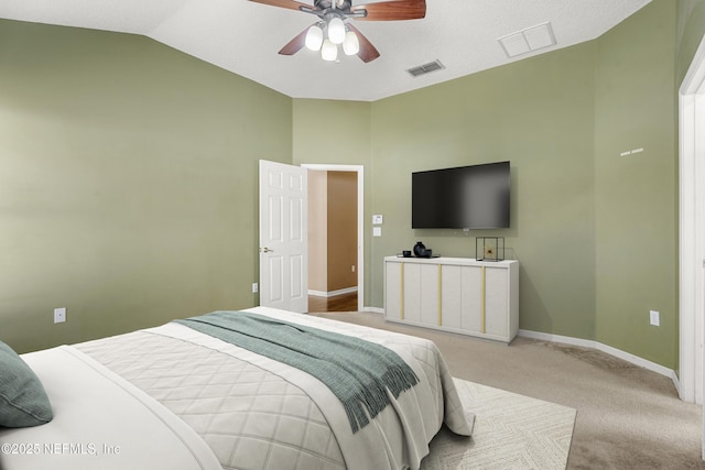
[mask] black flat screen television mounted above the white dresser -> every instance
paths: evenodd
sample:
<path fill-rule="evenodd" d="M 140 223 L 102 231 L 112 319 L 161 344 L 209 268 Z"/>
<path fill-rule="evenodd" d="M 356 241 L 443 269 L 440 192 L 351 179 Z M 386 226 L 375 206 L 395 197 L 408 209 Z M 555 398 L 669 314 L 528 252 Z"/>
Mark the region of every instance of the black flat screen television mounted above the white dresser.
<path fill-rule="evenodd" d="M 411 174 L 413 229 L 509 228 L 509 162 Z"/>

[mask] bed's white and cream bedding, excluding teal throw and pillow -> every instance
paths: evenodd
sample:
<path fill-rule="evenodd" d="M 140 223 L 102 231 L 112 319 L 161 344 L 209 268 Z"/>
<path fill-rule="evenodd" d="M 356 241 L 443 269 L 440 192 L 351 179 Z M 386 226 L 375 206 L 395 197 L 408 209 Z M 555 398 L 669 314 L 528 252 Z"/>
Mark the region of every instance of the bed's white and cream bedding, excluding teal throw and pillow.
<path fill-rule="evenodd" d="M 172 321 L 22 354 L 53 418 L 0 427 L 0 469 L 417 469 L 444 423 L 471 434 L 471 411 L 429 340 L 267 307 L 218 314 L 364 339 L 393 351 L 416 383 L 355 418 L 308 364 Z"/>

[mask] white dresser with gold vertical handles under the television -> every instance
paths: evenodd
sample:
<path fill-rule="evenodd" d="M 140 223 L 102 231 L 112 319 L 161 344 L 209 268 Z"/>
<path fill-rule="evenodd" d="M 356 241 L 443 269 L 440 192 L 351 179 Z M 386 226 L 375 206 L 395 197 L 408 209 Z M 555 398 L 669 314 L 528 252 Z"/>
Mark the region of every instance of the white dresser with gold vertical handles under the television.
<path fill-rule="evenodd" d="M 509 343 L 519 331 L 519 262 L 387 256 L 384 318 Z"/>

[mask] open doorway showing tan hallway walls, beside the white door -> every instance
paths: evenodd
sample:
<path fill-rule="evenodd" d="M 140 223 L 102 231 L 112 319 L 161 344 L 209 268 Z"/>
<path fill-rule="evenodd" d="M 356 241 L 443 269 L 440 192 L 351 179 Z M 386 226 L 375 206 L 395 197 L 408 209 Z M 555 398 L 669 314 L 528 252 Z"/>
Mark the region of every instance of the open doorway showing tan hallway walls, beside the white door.
<path fill-rule="evenodd" d="M 308 170 L 308 311 L 364 309 L 364 167 Z"/>

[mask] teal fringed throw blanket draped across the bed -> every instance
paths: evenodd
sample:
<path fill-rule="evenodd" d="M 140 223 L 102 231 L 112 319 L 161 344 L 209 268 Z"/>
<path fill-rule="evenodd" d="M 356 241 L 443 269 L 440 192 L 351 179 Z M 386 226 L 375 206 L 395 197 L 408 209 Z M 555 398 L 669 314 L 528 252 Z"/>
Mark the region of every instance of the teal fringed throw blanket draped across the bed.
<path fill-rule="evenodd" d="M 213 311 L 174 320 L 283 362 L 318 379 L 340 400 L 352 433 L 419 383 L 394 351 L 359 338 L 246 311 Z"/>

